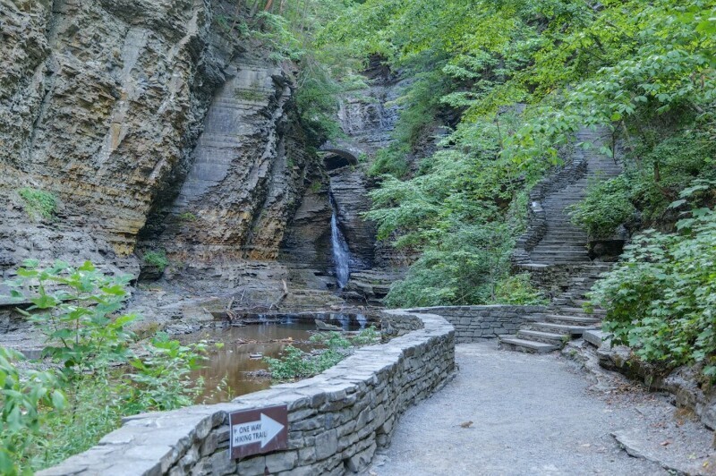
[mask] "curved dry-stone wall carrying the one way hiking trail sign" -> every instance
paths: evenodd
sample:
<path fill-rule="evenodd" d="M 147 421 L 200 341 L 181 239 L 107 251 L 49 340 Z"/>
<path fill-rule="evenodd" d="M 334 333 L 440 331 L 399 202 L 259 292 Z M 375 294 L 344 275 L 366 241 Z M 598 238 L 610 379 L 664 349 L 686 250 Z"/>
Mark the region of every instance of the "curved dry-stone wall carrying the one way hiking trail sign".
<path fill-rule="evenodd" d="M 320 375 L 230 404 L 127 418 L 98 446 L 41 475 L 319 475 L 358 472 L 387 446 L 396 420 L 456 370 L 455 331 L 434 314 L 384 312 L 396 337 L 358 349 Z M 229 458 L 229 412 L 286 404 L 288 449 Z"/>

